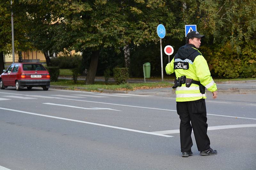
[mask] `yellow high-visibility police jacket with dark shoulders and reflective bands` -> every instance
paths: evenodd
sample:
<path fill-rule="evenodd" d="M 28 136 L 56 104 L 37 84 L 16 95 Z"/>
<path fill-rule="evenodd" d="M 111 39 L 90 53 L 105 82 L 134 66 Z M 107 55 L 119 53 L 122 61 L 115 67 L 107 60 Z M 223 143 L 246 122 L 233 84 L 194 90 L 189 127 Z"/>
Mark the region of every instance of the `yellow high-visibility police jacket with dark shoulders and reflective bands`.
<path fill-rule="evenodd" d="M 186 78 L 200 81 L 211 92 L 217 90 L 206 60 L 192 44 L 186 44 L 179 48 L 172 61 L 166 65 L 165 72 L 166 74 L 175 72 L 177 79 L 185 75 Z M 176 102 L 194 101 L 202 98 L 206 99 L 206 93 L 200 93 L 197 84 L 192 83 L 190 87 L 182 84 L 181 87 L 176 88 Z"/>

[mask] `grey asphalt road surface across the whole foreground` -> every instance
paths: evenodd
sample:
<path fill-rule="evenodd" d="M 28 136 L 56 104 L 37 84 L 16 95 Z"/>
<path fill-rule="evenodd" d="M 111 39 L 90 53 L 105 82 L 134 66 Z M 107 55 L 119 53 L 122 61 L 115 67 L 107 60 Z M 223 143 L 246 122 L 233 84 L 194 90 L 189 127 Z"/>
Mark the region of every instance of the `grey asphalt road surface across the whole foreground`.
<path fill-rule="evenodd" d="M 256 95 L 206 99 L 217 155 L 182 158 L 174 97 L 0 90 L 0 169 L 256 169 Z M 192 133 L 193 134 L 193 133 Z"/>

